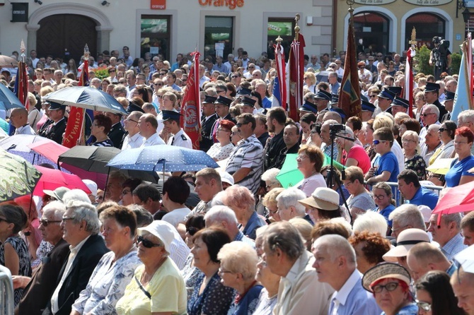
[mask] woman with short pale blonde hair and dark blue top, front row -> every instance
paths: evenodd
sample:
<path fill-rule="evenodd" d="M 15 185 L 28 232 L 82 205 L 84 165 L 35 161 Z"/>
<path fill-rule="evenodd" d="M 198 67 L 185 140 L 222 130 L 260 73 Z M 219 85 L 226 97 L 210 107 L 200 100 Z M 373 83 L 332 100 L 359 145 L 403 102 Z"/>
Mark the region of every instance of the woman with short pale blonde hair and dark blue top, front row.
<path fill-rule="evenodd" d="M 222 246 L 217 259 L 221 261 L 221 282 L 236 290 L 235 299 L 227 314 L 253 314 L 263 288 L 255 280 L 258 263 L 255 249 L 244 242 L 231 242 Z"/>

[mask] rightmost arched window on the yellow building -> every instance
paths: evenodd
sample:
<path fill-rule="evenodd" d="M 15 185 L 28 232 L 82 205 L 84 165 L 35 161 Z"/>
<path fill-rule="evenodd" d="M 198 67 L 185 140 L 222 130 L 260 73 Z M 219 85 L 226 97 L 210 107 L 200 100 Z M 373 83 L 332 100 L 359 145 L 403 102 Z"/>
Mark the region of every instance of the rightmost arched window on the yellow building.
<path fill-rule="evenodd" d="M 462 18 L 462 17 L 461 17 Z M 434 36 L 441 36 L 446 38 L 446 22 L 432 13 L 417 13 L 407 18 L 407 24 L 405 28 L 405 47 L 410 47 L 408 41 L 411 40 L 412 30 L 415 27 L 417 32 L 417 44 L 418 47 L 422 47 L 426 44 L 429 49 L 432 49 L 432 40 Z"/>

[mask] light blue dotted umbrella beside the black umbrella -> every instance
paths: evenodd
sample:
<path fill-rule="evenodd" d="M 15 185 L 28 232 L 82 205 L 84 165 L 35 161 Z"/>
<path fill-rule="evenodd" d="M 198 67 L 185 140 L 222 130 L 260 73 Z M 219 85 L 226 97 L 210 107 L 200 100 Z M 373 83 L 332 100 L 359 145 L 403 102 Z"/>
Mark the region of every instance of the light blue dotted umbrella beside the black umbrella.
<path fill-rule="evenodd" d="M 219 167 L 204 151 L 173 145 L 152 145 L 125 150 L 113 157 L 107 166 L 121 170 L 154 172 L 192 172 L 205 167 Z"/>

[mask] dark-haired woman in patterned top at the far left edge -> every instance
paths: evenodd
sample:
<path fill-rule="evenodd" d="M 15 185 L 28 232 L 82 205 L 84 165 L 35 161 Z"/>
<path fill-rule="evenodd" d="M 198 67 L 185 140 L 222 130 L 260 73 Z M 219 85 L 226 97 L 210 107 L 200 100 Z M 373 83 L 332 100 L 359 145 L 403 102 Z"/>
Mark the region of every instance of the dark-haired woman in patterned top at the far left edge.
<path fill-rule="evenodd" d="M 28 222 L 23 209 L 16 203 L 0 204 L 0 264 L 8 268 L 11 275 L 31 277 L 30 254 L 25 241 L 18 235 Z M 14 304 L 18 304 L 23 288 L 14 292 Z"/>

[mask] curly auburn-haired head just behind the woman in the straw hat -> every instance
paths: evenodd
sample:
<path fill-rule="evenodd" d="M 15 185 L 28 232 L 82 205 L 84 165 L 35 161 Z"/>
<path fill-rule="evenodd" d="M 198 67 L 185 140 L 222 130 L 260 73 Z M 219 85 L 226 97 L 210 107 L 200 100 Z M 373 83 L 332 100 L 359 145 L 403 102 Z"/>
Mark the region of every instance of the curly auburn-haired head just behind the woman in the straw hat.
<path fill-rule="evenodd" d="M 357 270 L 366 273 L 378 263 L 383 263 L 382 256 L 390 250 L 391 244 L 380 233 L 369 231 L 354 232 L 349 237 L 349 243 L 354 247 L 357 259 Z"/>

